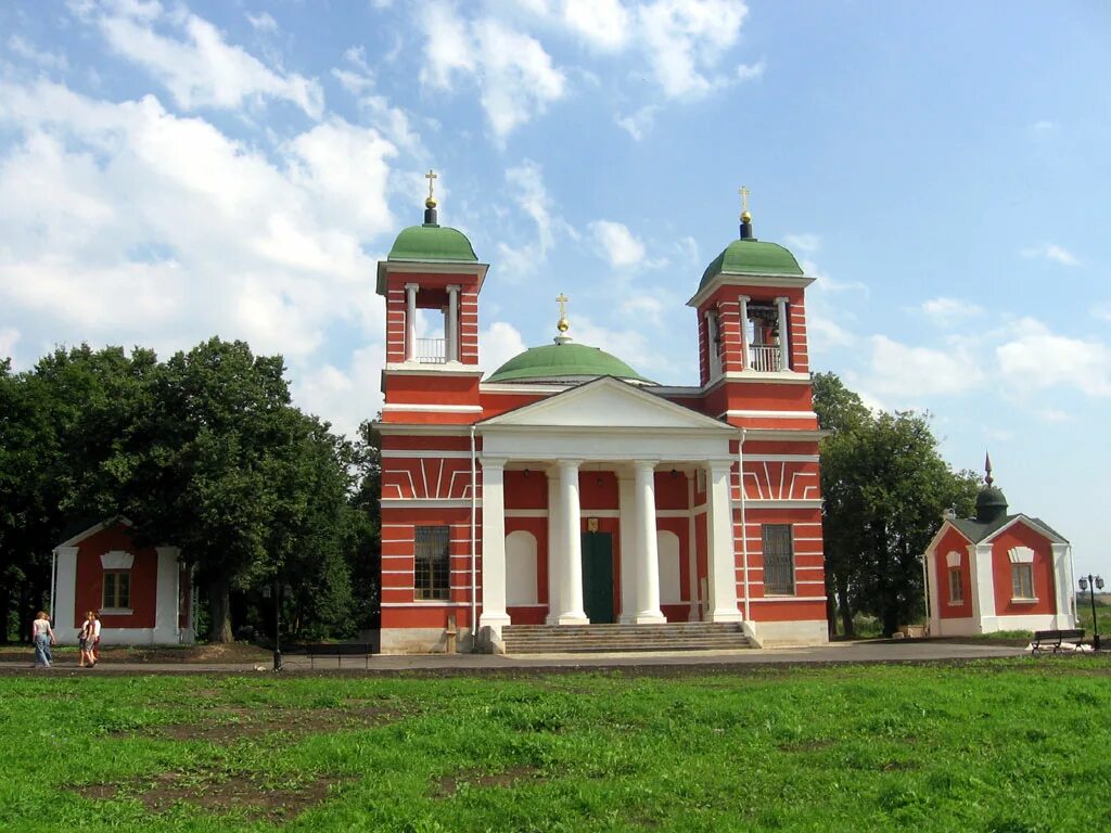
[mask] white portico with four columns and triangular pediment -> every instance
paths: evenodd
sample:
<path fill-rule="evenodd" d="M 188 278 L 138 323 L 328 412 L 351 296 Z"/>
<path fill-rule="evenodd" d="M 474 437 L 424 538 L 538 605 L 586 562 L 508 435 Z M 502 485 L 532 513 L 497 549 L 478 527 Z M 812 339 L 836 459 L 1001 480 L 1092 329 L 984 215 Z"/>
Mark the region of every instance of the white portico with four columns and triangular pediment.
<path fill-rule="evenodd" d="M 594 622 L 587 612 L 591 601 L 604 615 L 604 605 L 599 609 L 598 604 L 599 598 L 604 602 L 607 581 L 617 621 L 668 621 L 661 609 L 658 476 L 682 478 L 691 498 L 695 491 L 701 495 L 700 505 L 691 500 L 669 514 L 684 515 L 691 536 L 695 515 L 705 515 L 709 570 L 701 600 L 704 618 L 713 622 L 741 620 L 730 493 L 734 460 L 729 442 L 735 438 L 735 429 L 634 385 L 603 378 L 481 422 L 477 430 L 482 438 L 479 462 L 483 489 L 479 625 L 490 629 L 490 640 L 498 642 L 502 626 L 511 623 L 507 591 L 514 582 L 514 568 L 507 561 L 506 518 L 507 511 L 513 510 L 507 504 L 507 471 L 547 478 L 548 500 L 542 510 L 548 532 L 547 553 L 542 554 L 547 558 L 547 623 Z M 601 485 L 603 475 L 615 491 L 615 506 L 603 510 L 612 532 L 598 530 L 599 512 L 584 510 L 581 495 L 584 479 L 595 478 Z M 695 484 L 702 488 L 695 490 Z M 618 552 L 610 549 L 614 538 Z M 584 541 L 589 552 L 584 552 Z M 693 549 L 688 550 L 689 559 L 694 558 Z M 618 582 L 613 572 L 619 573 Z M 674 571 L 668 575 L 678 580 Z M 693 599 L 698 582 L 690 582 L 689 589 Z M 584 593 L 591 592 L 593 599 L 584 599 Z M 669 592 L 671 598 L 677 595 Z"/>

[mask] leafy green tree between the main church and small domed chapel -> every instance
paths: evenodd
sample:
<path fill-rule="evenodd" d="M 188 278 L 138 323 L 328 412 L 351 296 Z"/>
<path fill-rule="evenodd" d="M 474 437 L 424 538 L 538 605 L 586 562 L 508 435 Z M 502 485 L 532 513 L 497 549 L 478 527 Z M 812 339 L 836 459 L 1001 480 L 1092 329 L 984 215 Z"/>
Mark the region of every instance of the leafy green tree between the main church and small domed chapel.
<path fill-rule="evenodd" d="M 857 605 L 879 616 L 890 635 L 921 611 L 919 558 L 944 510 L 971 511 L 977 480 L 942 460 L 928 414 L 865 418 L 859 397 L 820 375 L 815 410 L 832 431 L 821 448 L 828 582 L 845 633 Z"/>

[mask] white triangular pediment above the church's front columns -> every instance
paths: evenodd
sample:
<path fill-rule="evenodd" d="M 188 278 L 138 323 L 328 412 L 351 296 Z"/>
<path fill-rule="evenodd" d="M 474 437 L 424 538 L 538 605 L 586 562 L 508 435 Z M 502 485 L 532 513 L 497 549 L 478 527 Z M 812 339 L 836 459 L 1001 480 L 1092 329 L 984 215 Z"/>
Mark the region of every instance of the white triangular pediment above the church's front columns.
<path fill-rule="evenodd" d="M 737 433 L 731 425 L 610 378 L 595 379 L 478 424 L 480 430 L 502 426 Z"/>

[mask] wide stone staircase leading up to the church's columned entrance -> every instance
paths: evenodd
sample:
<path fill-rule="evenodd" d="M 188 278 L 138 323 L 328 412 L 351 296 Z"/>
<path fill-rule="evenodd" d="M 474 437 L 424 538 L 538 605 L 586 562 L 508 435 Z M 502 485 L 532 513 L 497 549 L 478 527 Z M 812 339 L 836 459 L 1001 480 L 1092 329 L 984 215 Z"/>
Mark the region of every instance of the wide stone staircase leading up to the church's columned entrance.
<path fill-rule="evenodd" d="M 752 648 L 738 623 L 506 625 L 507 654 L 735 651 Z"/>

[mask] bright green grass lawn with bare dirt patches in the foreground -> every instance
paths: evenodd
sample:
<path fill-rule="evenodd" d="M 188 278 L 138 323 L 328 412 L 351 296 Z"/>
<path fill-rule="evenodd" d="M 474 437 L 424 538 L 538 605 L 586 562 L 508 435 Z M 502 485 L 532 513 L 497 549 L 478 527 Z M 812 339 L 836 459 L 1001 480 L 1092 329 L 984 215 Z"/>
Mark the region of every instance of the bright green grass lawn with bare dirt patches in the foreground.
<path fill-rule="evenodd" d="M 1111 659 L 0 678 L 0 830 L 1105 831 Z"/>

